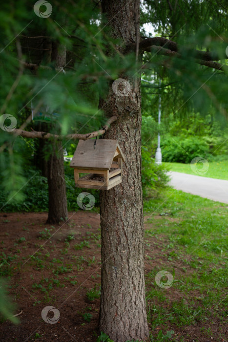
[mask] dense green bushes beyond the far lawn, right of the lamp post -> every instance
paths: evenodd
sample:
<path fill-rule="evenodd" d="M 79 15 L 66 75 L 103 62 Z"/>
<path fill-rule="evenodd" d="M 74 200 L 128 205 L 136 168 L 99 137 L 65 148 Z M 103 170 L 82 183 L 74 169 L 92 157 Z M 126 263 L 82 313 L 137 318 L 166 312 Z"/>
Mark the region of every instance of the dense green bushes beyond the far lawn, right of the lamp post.
<path fill-rule="evenodd" d="M 161 147 L 166 162 L 190 163 L 197 156 L 209 161 L 228 156 L 228 127 L 226 121 L 215 121 L 215 114 L 202 117 L 191 113 L 180 118 L 170 116 Z"/>

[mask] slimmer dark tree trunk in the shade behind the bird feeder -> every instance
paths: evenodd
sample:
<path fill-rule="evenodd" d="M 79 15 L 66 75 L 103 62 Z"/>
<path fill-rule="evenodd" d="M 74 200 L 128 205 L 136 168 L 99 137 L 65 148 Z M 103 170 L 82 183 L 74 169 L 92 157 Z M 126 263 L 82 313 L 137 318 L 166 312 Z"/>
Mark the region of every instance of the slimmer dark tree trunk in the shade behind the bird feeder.
<path fill-rule="evenodd" d="M 65 63 L 66 48 L 60 45 L 56 56 L 56 66 L 61 67 Z M 61 220 L 65 221 L 68 217 L 62 142 L 53 143 L 53 152 L 49 156 L 47 169 L 49 193 L 47 223 L 55 224 Z"/>

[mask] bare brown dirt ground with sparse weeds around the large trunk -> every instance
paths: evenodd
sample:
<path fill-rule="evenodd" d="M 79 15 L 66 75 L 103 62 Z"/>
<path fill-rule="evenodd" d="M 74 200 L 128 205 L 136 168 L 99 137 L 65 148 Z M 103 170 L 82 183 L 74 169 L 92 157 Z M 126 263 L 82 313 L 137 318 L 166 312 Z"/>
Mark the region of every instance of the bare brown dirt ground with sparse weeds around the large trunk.
<path fill-rule="evenodd" d="M 95 289 L 98 293 L 101 279 L 100 215 L 85 211 L 69 213 L 69 220 L 55 227 L 45 224 L 46 219 L 46 213 L 0 214 L 0 253 L 7 260 L 0 271 L 5 278 L 10 277 L 9 293 L 17 303 L 16 313 L 22 311 L 19 325 L 1 320 L 0 341 L 95 342 L 100 299 L 94 298 L 92 292 L 89 300 L 88 290 Z M 162 247 L 156 241 L 151 237 L 150 247 L 145 246 L 145 254 L 150 256 L 150 261 L 145 262 L 145 274 L 158 263 L 163 264 Z M 180 268 L 176 272 L 182 276 Z M 196 295 L 196 292 L 189 294 Z M 168 296 L 164 304 L 167 309 L 173 300 L 181 297 L 176 290 Z M 157 301 L 155 298 L 154 302 Z M 59 310 L 58 323 L 48 324 L 41 318 L 41 311 L 47 305 Z M 85 320 L 88 314 L 91 321 Z M 155 330 L 174 330 L 174 341 L 226 341 L 205 336 L 202 326 L 200 321 L 185 327 L 167 322 Z M 221 322 L 213 321 L 208 327 L 213 336 L 221 336 L 221 332 L 226 336 L 228 332 Z M 156 336 L 157 332 L 152 334 Z"/>

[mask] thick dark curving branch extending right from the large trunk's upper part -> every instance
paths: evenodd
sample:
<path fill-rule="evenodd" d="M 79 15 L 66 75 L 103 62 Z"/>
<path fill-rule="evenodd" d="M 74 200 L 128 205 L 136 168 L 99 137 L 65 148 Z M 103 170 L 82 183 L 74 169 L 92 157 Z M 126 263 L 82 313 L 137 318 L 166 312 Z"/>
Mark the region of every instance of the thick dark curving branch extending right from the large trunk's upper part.
<path fill-rule="evenodd" d="M 186 48 L 178 46 L 176 42 L 170 41 L 169 39 L 166 39 L 164 37 L 153 37 L 153 38 L 147 38 L 144 39 L 139 43 L 139 49 L 147 51 L 148 47 L 151 46 L 163 46 L 167 49 L 174 51 L 174 52 L 182 52 L 185 51 L 187 54 L 189 54 L 193 58 L 201 59 L 204 61 L 219 61 L 221 59 L 228 59 L 226 53 L 224 52 L 224 56 L 218 56 L 215 52 L 208 52 L 208 51 L 199 51 L 196 49 Z M 135 50 L 136 44 L 132 43 L 127 46 L 127 50 Z"/>

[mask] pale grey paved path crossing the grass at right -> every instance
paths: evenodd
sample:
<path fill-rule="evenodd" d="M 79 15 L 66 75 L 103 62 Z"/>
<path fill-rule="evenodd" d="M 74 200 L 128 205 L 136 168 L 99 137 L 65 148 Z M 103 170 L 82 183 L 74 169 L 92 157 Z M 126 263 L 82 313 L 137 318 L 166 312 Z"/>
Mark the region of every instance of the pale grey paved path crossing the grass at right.
<path fill-rule="evenodd" d="M 213 201 L 228 203 L 228 180 L 207 178 L 181 172 L 168 172 L 174 189 L 199 195 Z"/>

